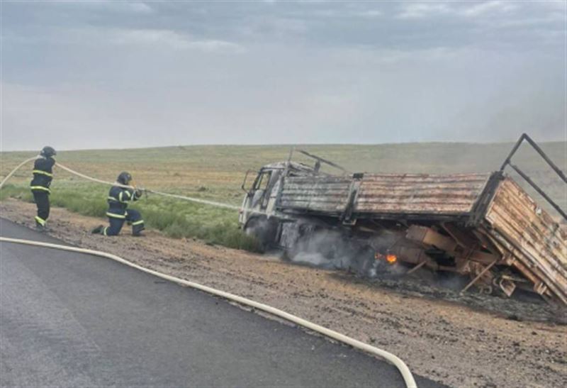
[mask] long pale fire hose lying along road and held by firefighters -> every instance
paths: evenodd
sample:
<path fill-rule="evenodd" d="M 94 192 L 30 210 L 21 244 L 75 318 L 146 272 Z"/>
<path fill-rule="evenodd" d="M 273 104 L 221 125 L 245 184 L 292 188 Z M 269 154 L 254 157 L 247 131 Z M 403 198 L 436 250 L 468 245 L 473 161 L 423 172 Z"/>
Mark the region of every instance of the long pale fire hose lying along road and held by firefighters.
<path fill-rule="evenodd" d="M 14 172 L 16 172 L 18 169 L 20 169 L 27 162 L 30 162 L 31 160 L 35 160 L 35 158 L 36 157 L 32 157 L 28 160 L 24 160 L 20 165 L 18 165 L 14 170 L 12 170 L 2 180 L 2 182 L 0 182 L 0 189 L 4 186 L 5 182 L 14 174 Z M 64 166 L 60 165 L 59 163 L 57 163 L 57 166 L 61 167 L 63 170 L 67 170 L 67 172 L 75 174 L 79 177 L 82 177 L 84 179 L 89 179 L 92 182 L 99 182 L 99 183 L 103 183 L 103 184 L 116 184 L 116 183 L 112 183 L 112 182 L 106 182 L 106 181 L 103 181 L 101 179 L 89 177 L 87 175 L 81 174 L 80 172 L 76 172 L 76 171 L 74 171 L 74 170 L 72 170 L 68 167 L 64 167 Z M 123 186 L 123 185 L 120 185 L 120 186 Z M 204 199 L 197 199 L 197 198 L 192 198 L 192 197 L 189 197 L 189 196 L 181 196 L 181 195 L 176 195 L 176 194 L 154 192 L 154 191 L 152 191 L 152 192 L 155 193 L 155 194 L 159 194 L 159 195 L 170 196 L 172 198 L 195 201 L 195 202 L 198 202 L 200 204 L 209 204 L 209 205 L 213 205 L 213 206 L 222 205 L 223 207 L 226 207 L 226 208 L 229 208 L 229 209 L 240 209 L 238 206 L 232 206 L 232 205 L 228 205 L 228 204 L 220 204 L 220 203 L 217 203 L 215 201 L 206 201 Z M 208 287 L 208 286 L 205 286 L 203 284 L 198 284 L 198 283 L 195 283 L 195 282 L 189 282 L 189 280 L 180 279 L 179 277 L 173 277 L 171 275 L 166 275 L 166 274 L 163 274 L 161 272 L 157 272 L 155 270 L 150 270 L 149 268 L 142 267 L 141 265 L 137 265 L 137 264 L 130 262 L 128 260 L 125 260 L 122 257 L 119 257 L 117 255 L 113 255 L 111 253 L 106 253 L 106 252 L 101 252 L 99 250 L 90 250 L 90 249 L 86 249 L 86 248 L 76 248 L 76 247 L 71 247 L 71 246 L 67 246 L 67 245 L 58 245 L 58 244 L 52 244 L 52 243 L 41 243 L 39 241 L 21 240 L 21 239 L 18 239 L 18 238 L 6 238 L 6 237 L 1 237 L 1 236 L 0 236 L 0 242 L 17 243 L 17 244 L 24 244 L 24 245 L 35 245 L 35 246 L 43 247 L 43 248 L 67 250 L 67 251 L 70 251 L 70 252 L 85 253 L 87 255 L 96 255 L 96 256 L 100 256 L 100 257 L 106 257 L 110 260 L 120 262 L 124 265 L 128 265 L 129 267 L 133 267 L 136 270 L 140 270 L 142 272 L 146 272 L 148 274 L 160 277 L 162 279 L 166 279 L 170 282 L 174 282 L 174 283 L 186 286 L 186 287 L 198 289 L 198 290 L 201 290 L 203 292 L 207 292 L 208 294 L 220 296 L 220 297 L 228 299 L 230 301 L 235 301 L 238 304 L 242 304 L 242 305 L 245 305 L 245 306 L 252 307 L 253 309 L 264 311 L 268 314 L 278 316 L 279 318 L 283 318 L 286 321 L 289 321 L 291 323 L 295 323 L 298 326 L 303 326 L 304 328 L 307 328 L 311 331 L 315 331 L 316 333 L 320 333 L 323 336 L 327 336 L 328 338 L 332 338 L 332 339 L 337 340 L 339 342 L 350 345 L 353 348 L 363 350 L 366 353 L 376 355 L 378 357 L 383 358 L 384 360 L 387 360 L 388 362 L 391 362 L 391 364 L 393 364 L 400 371 L 400 374 L 402 375 L 402 377 L 404 379 L 406 387 L 417 388 L 417 384 L 415 383 L 415 379 L 413 378 L 412 372 L 408 368 L 408 365 L 405 365 L 405 362 L 403 362 L 403 360 L 401 360 L 398 356 L 393 355 L 392 353 L 389 353 L 386 350 L 382 350 L 380 348 L 376 348 L 375 346 L 369 345 L 369 344 L 361 342 L 359 340 L 355 340 L 354 338 L 350 338 L 349 336 L 345 336 L 344 334 L 338 333 L 337 331 L 332 331 L 329 328 L 325 328 L 325 327 L 320 326 L 316 323 L 307 321 L 306 319 L 300 318 L 298 316 L 294 316 L 293 314 L 289 314 L 286 311 L 276 309 L 275 307 L 272 307 L 272 306 L 268 306 L 267 304 L 262 304 L 262 303 L 259 303 L 257 301 L 253 301 L 252 299 L 247 299 L 247 298 L 244 298 L 242 296 L 230 294 L 229 292 L 224 292 L 224 291 L 221 291 L 221 290 L 218 290 L 218 289 L 214 289 L 212 287 Z"/>

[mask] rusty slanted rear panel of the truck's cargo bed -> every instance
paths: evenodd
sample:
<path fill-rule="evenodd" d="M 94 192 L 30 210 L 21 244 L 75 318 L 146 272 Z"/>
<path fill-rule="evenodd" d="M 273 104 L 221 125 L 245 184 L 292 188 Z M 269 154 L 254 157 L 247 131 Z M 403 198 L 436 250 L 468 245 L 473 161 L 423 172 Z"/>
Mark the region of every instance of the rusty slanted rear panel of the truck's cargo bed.
<path fill-rule="evenodd" d="M 539 279 L 539 284 L 534 284 L 537 289 L 547 288 L 567 304 L 565 229 L 509 177 L 500 182 L 485 222 L 486 233 L 521 263 L 517 270 L 529 272 L 524 276 Z"/>

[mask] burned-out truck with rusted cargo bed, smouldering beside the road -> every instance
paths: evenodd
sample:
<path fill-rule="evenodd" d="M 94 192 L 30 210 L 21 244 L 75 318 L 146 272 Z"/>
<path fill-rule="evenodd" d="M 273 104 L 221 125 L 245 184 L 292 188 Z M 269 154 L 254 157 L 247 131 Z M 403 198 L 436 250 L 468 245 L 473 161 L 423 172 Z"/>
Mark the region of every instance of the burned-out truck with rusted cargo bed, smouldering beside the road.
<path fill-rule="evenodd" d="M 506 172 L 510 166 L 557 213 L 512 156 L 522 142 L 567 183 L 565 174 L 522 135 L 500 170 L 474 174 L 350 173 L 329 160 L 302 153 L 313 165 L 288 160 L 245 177 L 240 225 L 265 248 L 288 257 L 315 254 L 348 262 L 361 275 L 421 267 L 470 277 L 481 292 L 511 296 L 516 289 L 567 304 L 567 230 Z M 339 170 L 322 172 L 322 165 Z M 251 182 L 249 184 L 248 182 Z M 249 184 L 249 187 L 247 187 Z M 340 265 L 339 265 L 340 267 Z"/>

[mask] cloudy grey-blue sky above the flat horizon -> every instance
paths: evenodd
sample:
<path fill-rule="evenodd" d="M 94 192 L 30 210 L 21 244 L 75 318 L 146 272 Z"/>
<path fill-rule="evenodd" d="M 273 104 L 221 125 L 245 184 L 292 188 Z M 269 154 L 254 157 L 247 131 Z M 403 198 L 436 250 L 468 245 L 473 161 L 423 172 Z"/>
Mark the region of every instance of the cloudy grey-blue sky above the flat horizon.
<path fill-rule="evenodd" d="M 567 140 L 566 1 L 2 1 L 1 150 Z"/>

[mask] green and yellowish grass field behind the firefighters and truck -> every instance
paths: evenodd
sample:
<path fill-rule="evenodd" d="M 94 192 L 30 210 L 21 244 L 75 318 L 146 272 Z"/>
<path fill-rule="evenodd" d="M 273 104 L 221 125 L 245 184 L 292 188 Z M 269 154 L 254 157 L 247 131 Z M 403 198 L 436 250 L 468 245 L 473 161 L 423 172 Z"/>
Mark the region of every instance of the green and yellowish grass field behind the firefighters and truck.
<path fill-rule="evenodd" d="M 303 145 L 352 172 L 488 172 L 498 170 L 512 143 L 406 143 L 384 145 Z M 57 145 L 55 145 L 57 146 Z M 556 164 L 567 170 L 567 142 L 543 143 L 541 148 Z M 247 170 L 258 170 L 269 162 L 286 160 L 288 145 L 195 145 L 128 150 L 62 151 L 57 161 L 92 177 L 113 181 L 120 171 L 133 174 L 136 183 L 148 189 L 184 194 L 240 205 L 242 179 Z M 6 176 L 33 152 L 0 153 L 0 174 Z M 309 162 L 296 153 L 294 160 Z M 540 160 L 523 146 L 515 164 L 529 173 L 565 209 L 566 186 Z M 30 200 L 27 186 L 31 166 L 25 167 L 2 190 L 1 198 L 20 196 Z M 55 170 L 52 204 L 106 222 L 108 187 L 82 181 L 62 170 Z M 512 174 L 513 175 L 513 174 Z M 519 181 L 520 182 L 520 181 Z M 524 185 L 525 187 L 525 185 Z M 530 194 L 534 192 L 527 188 Z M 538 201 L 543 200 L 534 194 Z M 240 233 L 237 213 L 227 209 L 186 201 L 150 196 L 135 205 L 148 226 L 173 237 L 196 237 L 233 248 L 256 249 L 254 241 Z"/>

